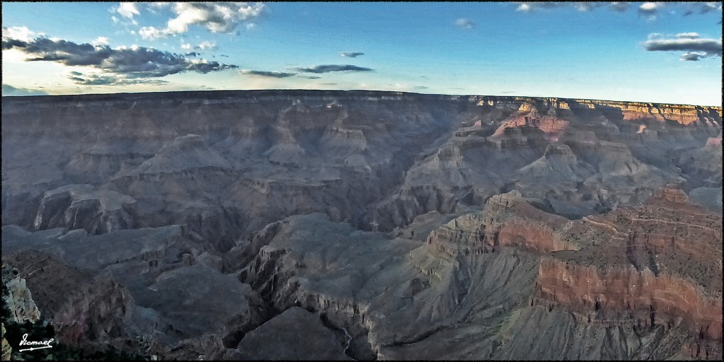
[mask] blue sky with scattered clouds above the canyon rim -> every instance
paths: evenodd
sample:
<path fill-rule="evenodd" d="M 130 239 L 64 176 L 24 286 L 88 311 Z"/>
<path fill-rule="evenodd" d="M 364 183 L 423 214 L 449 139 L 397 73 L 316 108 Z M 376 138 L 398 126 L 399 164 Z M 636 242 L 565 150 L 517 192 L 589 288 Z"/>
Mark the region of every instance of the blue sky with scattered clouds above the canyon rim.
<path fill-rule="evenodd" d="M 720 2 L 2 3 L 2 94 L 366 89 L 721 106 Z"/>

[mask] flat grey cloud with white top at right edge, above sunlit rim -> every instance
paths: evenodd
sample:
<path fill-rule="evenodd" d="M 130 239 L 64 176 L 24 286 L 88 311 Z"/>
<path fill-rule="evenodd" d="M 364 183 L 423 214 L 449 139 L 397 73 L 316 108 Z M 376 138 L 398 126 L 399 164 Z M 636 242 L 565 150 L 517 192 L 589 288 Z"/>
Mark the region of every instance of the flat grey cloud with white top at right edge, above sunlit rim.
<path fill-rule="evenodd" d="M 697 33 L 680 33 L 675 38 L 652 35 L 644 42 L 647 51 L 684 51 L 686 53 L 681 56 L 683 61 L 722 56 L 721 39 L 700 38 Z"/>

